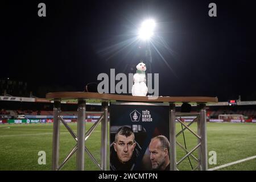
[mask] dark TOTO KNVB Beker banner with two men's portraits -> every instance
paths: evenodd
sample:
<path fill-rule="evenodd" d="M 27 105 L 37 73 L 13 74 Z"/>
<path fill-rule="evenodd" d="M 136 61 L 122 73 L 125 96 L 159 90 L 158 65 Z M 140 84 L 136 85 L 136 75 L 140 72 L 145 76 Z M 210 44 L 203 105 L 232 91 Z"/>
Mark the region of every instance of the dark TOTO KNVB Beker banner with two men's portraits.
<path fill-rule="evenodd" d="M 167 148 L 165 156 L 150 159 L 154 147 L 159 149 L 159 138 L 151 142 L 157 136 L 170 141 L 168 106 L 110 105 L 110 170 L 170 169 Z"/>

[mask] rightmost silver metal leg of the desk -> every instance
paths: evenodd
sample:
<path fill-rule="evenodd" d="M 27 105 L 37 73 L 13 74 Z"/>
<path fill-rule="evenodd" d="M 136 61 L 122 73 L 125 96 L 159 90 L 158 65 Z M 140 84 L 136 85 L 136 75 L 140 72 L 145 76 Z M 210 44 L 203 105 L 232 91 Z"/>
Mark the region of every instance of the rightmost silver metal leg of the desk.
<path fill-rule="evenodd" d="M 207 154 L 207 117 L 205 104 L 200 104 L 200 136 L 201 136 L 201 170 L 208 170 Z"/>

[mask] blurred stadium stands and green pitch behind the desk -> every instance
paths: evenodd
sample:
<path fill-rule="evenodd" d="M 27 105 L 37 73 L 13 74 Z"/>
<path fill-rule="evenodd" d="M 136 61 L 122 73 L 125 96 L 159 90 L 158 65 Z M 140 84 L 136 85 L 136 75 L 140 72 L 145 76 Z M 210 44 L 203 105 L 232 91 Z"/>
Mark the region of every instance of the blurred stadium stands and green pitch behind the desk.
<path fill-rule="evenodd" d="M 26 84 L 18 81 L 5 83 L 0 80 L 0 170 L 51 170 L 52 158 L 52 122 L 53 102 L 45 98 L 32 96 L 27 92 Z M 10 81 L 9 81 L 10 82 Z M 12 90 L 19 90 L 15 93 Z M 22 97 L 23 96 L 23 97 Z M 87 103 L 86 130 L 100 118 L 100 104 Z M 207 138 L 208 152 L 216 151 L 217 164 L 209 164 L 208 168 L 221 166 L 237 160 L 256 155 L 256 101 L 241 101 L 241 98 L 207 105 Z M 193 107 L 192 105 L 192 108 Z M 62 115 L 69 126 L 76 131 L 77 106 L 75 101 L 65 101 L 61 105 Z M 193 110 L 193 109 L 192 109 Z M 193 118 L 183 117 L 184 122 L 191 122 Z M 177 129 L 181 126 L 177 123 Z M 196 123 L 192 129 L 196 131 Z M 100 161 L 100 129 L 93 132 L 86 146 L 94 157 Z M 185 131 L 185 142 L 188 150 L 196 143 L 196 138 Z M 181 135 L 177 139 L 183 143 Z M 65 127 L 60 129 L 60 162 L 63 161 L 75 142 Z M 38 152 L 47 154 L 46 165 L 38 164 Z M 184 155 L 184 151 L 177 147 L 177 159 Z M 195 152 L 195 156 L 197 153 Z M 210 158 L 210 156 L 208 156 Z M 62 168 L 75 170 L 75 155 Z M 99 170 L 89 159 L 85 158 L 86 170 Z M 191 170 L 196 164 L 191 159 L 186 160 L 178 168 Z M 234 164 L 219 170 L 256 170 L 256 159 Z"/>

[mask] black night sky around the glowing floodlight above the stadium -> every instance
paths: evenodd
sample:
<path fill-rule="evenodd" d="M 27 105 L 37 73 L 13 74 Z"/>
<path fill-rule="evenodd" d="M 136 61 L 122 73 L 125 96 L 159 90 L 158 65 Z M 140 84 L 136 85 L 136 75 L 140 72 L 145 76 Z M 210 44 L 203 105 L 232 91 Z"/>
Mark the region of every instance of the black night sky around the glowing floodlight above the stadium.
<path fill-rule="evenodd" d="M 129 40 L 153 18 L 160 96 L 256 100 L 253 1 L 4 1 L 0 15 L 0 77 L 27 81 L 36 96 L 82 91 L 110 68 L 135 73 L 145 43 Z"/>

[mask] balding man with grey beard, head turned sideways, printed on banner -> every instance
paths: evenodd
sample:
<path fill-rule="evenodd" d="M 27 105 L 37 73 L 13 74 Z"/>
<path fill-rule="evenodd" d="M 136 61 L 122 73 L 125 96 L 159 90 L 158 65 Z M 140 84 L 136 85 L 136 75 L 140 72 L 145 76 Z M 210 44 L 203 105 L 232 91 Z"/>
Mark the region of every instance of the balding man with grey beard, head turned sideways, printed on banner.
<path fill-rule="evenodd" d="M 148 147 L 153 170 L 170 171 L 170 142 L 159 135 L 151 139 Z"/>

